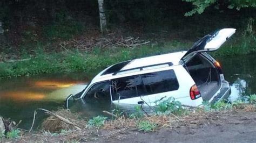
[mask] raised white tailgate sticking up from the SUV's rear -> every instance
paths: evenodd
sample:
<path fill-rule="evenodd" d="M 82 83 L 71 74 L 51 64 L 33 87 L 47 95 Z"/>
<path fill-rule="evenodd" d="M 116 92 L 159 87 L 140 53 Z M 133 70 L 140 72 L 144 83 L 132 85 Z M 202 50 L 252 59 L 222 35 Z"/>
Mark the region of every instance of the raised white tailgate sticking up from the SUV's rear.
<path fill-rule="evenodd" d="M 235 30 L 235 28 L 223 28 L 205 35 L 194 43 L 181 60 L 184 60 L 187 56 L 196 52 L 216 51 L 225 41 L 231 38 Z"/>

